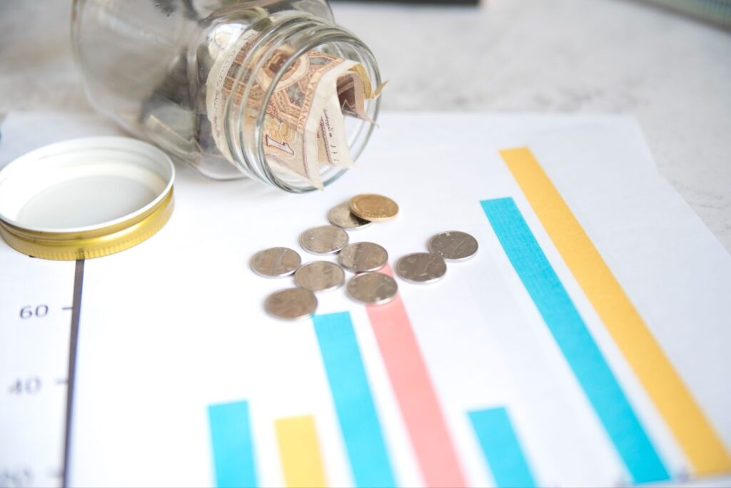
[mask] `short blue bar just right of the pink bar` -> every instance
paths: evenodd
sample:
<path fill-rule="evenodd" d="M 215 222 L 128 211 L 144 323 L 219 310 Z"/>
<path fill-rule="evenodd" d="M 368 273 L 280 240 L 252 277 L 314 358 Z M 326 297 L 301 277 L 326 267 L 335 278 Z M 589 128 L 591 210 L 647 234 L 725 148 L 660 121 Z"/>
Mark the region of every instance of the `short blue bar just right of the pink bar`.
<path fill-rule="evenodd" d="M 533 488 L 536 482 L 505 408 L 471 411 L 469 420 L 498 488 Z"/>

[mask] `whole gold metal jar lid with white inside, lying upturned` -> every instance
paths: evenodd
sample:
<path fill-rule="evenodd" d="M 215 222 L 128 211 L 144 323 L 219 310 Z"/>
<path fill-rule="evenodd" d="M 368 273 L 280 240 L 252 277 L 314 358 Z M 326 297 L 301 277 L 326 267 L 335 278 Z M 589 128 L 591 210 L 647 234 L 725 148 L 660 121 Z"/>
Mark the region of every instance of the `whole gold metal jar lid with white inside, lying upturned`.
<path fill-rule="evenodd" d="M 170 157 L 128 137 L 48 145 L 0 171 L 0 235 L 21 253 L 88 259 L 148 239 L 173 213 Z"/>

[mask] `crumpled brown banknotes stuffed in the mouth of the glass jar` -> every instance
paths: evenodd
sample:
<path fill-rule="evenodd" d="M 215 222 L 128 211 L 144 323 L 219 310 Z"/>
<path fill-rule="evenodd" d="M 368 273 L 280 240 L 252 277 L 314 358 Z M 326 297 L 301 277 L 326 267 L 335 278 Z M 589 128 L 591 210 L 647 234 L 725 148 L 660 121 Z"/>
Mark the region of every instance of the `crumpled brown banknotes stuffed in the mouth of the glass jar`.
<path fill-rule="evenodd" d="M 231 113 L 243 113 L 243 127 L 251 129 L 265 92 L 281 66 L 292 56 L 292 48 L 279 46 L 257 71 L 246 102 L 246 86 L 238 79 L 243 60 L 254 37 L 242 36 L 230 50 L 221 53 L 208 75 L 206 104 L 213 140 L 221 154 L 233 162 L 225 137 L 226 103 L 233 94 Z M 254 59 L 252 64 L 260 61 Z M 366 99 L 379 96 L 371 88 L 366 69 L 355 61 L 309 51 L 297 58 L 279 80 L 266 107 L 262 144 L 269 166 L 322 189 L 320 166 L 353 167 L 346 138 L 344 115 L 371 121 Z M 245 103 L 243 111 L 241 104 Z M 246 134 L 245 134 L 246 135 Z M 250 139 L 249 143 L 253 143 Z"/>

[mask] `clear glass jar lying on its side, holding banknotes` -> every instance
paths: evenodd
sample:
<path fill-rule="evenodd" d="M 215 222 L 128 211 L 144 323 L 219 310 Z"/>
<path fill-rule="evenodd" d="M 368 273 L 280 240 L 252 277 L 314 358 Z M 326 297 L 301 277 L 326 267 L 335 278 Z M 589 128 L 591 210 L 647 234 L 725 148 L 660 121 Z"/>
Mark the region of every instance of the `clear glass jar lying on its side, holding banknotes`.
<path fill-rule="evenodd" d="M 314 186 L 276 170 L 263 145 L 267 107 L 288 70 L 317 51 L 359 63 L 381 85 L 373 53 L 334 24 L 327 0 L 75 0 L 72 43 L 91 103 L 125 129 L 208 177 L 249 176 L 292 192 Z M 228 85 L 213 83 L 233 56 L 240 68 Z M 376 96 L 363 119 L 345 117 L 352 159 L 378 108 Z M 319 178 L 327 185 L 345 170 L 320 164 Z"/>

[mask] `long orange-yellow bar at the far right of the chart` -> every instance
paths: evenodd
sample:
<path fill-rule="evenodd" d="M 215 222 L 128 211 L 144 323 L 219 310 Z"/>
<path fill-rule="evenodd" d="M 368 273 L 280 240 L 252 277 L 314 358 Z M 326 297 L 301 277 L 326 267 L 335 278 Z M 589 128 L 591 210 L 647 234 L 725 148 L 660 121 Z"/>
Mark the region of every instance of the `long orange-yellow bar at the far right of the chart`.
<path fill-rule="evenodd" d="M 500 156 L 697 474 L 731 470 L 731 457 L 621 285 L 529 148 Z"/>

